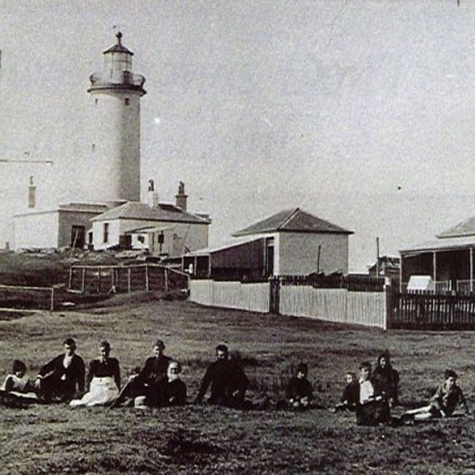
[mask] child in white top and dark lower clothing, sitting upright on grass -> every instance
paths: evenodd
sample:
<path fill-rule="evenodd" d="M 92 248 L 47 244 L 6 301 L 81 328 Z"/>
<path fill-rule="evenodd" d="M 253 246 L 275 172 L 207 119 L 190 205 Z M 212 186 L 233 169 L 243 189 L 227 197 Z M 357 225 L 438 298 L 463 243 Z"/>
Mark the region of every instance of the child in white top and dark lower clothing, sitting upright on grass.
<path fill-rule="evenodd" d="M 371 384 L 371 363 L 360 364 L 360 400 L 355 408 L 359 426 L 376 426 L 391 420 L 389 404 L 381 396 L 374 395 Z"/>

